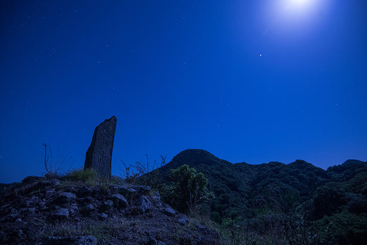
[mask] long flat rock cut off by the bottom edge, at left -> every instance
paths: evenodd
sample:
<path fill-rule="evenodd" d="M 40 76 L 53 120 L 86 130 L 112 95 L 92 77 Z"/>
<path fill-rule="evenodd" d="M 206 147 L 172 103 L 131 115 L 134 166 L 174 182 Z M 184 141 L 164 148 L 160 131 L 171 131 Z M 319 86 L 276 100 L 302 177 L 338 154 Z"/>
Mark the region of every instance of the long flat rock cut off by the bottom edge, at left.
<path fill-rule="evenodd" d="M 47 237 L 42 245 L 96 245 L 97 239 L 91 235 L 73 237 Z"/>

